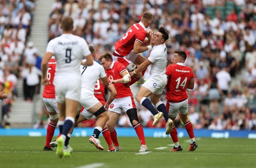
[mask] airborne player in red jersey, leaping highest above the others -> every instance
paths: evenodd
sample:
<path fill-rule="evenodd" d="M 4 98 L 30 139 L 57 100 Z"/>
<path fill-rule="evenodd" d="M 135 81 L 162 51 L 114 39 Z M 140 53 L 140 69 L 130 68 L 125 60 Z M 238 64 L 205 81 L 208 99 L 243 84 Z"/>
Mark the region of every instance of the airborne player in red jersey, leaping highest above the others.
<path fill-rule="evenodd" d="M 153 34 L 151 29 L 147 29 L 152 22 L 152 13 L 146 11 L 142 14 L 141 21 L 133 24 L 115 43 L 115 50 L 113 52 L 113 61 L 118 61 L 126 66 L 127 70 L 131 72 L 136 68 L 136 65 L 140 65 L 145 61 L 145 57 L 141 56 L 139 53 L 146 50 L 152 49 L 150 45 L 150 39 Z M 145 40 L 145 38 L 148 40 Z M 145 71 L 138 73 L 132 77 L 129 85 L 134 84 L 139 80 Z M 144 79 L 143 79 L 144 80 Z"/>

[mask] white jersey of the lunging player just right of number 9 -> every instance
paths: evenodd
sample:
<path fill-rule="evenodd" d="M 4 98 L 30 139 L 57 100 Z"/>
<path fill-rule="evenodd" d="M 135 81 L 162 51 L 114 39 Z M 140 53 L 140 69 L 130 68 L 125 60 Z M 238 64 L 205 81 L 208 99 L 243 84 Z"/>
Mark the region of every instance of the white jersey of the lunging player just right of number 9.
<path fill-rule="evenodd" d="M 92 93 L 95 89 L 97 80 L 107 76 L 103 66 L 99 65 L 96 61 L 93 61 L 93 65 L 91 66 L 81 65 L 80 70 L 82 77 L 82 89 L 92 91 Z"/>

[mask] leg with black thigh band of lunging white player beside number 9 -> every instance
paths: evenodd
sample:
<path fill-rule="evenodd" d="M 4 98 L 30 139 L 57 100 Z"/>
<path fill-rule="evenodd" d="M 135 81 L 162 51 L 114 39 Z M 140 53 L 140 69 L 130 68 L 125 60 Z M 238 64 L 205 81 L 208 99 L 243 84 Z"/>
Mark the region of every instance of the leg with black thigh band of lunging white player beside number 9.
<path fill-rule="evenodd" d="M 100 145 L 99 135 L 102 132 L 106 122 L 108 121 L 109 117 L 106 112 L 106 109 L 102 106 L 100 102 L 93 105 L 88 112 L 92 113 L 97 117 L 97 121 L 95 123 L 95 128 L 93 130 L 92 137 L 90 137 L 90 142 L 95 145 L 96 148 L 103 150 L 104 148 Z"/>

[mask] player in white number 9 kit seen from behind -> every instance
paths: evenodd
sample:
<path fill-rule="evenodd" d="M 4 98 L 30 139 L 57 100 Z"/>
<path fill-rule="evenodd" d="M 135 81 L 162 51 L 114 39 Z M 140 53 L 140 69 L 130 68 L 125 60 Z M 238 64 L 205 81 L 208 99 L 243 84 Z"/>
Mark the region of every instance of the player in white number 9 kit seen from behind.
<path fill-rule="evenodd" d="M 86 41 L 72 34 L 74 20 L 72 17 L 63 17 L 61 29 L 63 34 L 52 39 L 42 59 L 42 83 L 49 84 L 47 79 L 48 62 L 54 55 L 56 58 L 56 72 L 54 86 L 56 100 L 60 109 L 60 132 L 57 139 L 56 154 L 58 157 L 69 157 L 70 147 L 65 146 L 67 134 L 74 125 L 77 107 L 81 95 L 81 63 L 85 66 L 93 64 L 93 57 Z M 86 57 L 86 61 L 83 58 Z"/>

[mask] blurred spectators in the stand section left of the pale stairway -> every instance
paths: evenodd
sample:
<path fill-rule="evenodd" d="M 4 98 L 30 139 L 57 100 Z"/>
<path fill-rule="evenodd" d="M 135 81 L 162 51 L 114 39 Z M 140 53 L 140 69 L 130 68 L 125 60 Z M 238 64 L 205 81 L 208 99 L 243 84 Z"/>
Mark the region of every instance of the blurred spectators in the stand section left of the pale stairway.
<path fill-rule="evenodd" d="M 0 0 L 0 90 L 9 97 L 1 103 L 3 123 L 18 96 L 18 80 L 23 81 L 27 101 L 33 100 L 36 87 L 40 86 L 38 65 L 42 58 L 33 42 L 28 42 L 34 11 L 35 2 L 31 0 Z"/>

